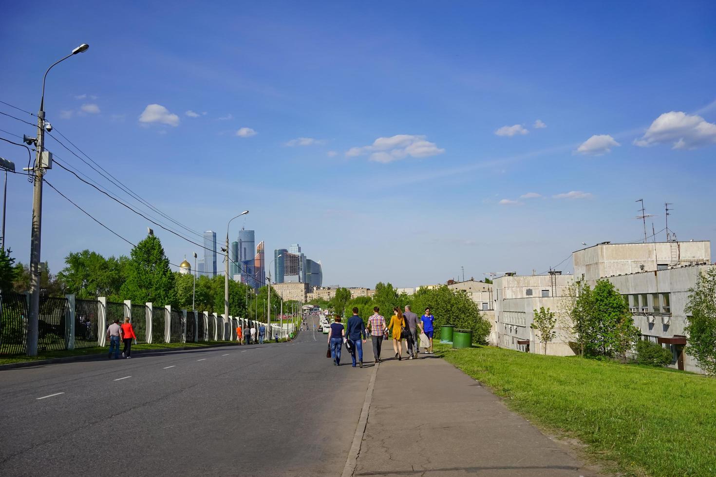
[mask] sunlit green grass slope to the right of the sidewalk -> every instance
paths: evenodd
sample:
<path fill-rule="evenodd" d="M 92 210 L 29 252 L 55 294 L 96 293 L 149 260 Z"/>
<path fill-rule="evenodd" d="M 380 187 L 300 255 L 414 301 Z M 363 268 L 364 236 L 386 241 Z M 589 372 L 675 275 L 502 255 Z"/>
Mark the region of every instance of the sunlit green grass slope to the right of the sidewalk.
<path fill-rule="evenodd" d="M 536 425 L 579 438 L 613 470 L 716 475 L 714 378 L 492 347 L 435 350 Z"/>

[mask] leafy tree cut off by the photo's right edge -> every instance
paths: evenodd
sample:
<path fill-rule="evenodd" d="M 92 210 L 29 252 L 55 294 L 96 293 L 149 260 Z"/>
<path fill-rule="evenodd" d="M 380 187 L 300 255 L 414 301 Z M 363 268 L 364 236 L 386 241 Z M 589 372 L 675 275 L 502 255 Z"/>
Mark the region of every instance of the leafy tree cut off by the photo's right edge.
<path fill-rule="evenodd" d="M 686 353 L 705 373 L 716 375 L 716 267 L 700 272 L 689 292 L 684 328 L 689 335 Z"/>

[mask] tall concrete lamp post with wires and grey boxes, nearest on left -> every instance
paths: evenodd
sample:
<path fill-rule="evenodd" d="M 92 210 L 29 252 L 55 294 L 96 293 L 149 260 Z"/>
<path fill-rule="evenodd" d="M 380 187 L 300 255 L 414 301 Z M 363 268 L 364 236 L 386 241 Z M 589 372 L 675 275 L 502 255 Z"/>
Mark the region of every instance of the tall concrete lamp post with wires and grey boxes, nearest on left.
<path fill-rule="evenodd" d="M 87 51 L 89 45 L 83 43 L 50 66 L 42 77 L 42 97 L 37 112 L 37 138 L 27 138 L 26 142 L 34 143 L 35 155 L 34 191 L 32 194 L 32 238 L 30 240 L 30 309 L 27 320 L 27 355 L 37 356 L 38 320 L 40 308 L 40 237 L 42 236 L 42 177 L 45 169 L 52 167 L 52 154 L 44 151 L 44 86 L 49 70 L 54 65 L 64 62 L 70 56 Z"/>

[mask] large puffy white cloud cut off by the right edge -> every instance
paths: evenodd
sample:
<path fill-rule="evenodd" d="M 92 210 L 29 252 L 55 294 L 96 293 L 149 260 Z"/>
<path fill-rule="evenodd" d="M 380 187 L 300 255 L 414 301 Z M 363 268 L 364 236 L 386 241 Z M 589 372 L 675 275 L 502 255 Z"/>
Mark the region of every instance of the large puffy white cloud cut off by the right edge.
<path fill-rule="evenodd" d="M 672 142 L 672 149 L 696 149 L 716 143 L 716 124 L 706 122 L 696 114 L 681 111 L 665 112 L 654 119 L 641 139 L 634 144 L 640 147 Z"/>

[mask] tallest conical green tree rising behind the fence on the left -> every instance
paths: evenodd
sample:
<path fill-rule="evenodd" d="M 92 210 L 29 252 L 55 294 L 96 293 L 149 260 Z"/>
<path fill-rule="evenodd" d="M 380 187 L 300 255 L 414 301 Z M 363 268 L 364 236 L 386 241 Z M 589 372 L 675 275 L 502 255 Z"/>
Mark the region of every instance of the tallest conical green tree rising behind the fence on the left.
<path fill-rule="evenodd" d="M 177 306 L 175 278 L 159 237 L 147 235 L 130 253 L 127 279 L 120 288 L 125 300 Z"/>

